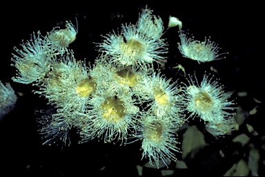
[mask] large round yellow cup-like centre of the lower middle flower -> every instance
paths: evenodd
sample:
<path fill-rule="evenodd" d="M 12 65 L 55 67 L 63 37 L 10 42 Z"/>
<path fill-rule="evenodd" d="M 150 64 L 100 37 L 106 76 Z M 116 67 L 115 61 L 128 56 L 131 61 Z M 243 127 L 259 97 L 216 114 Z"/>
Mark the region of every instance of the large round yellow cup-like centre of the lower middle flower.
<path fill-rule="evenodd" d="M 101 104 L 102 117 L 108 122 L 119 122 L 125 115 L 124 102 L 119 97 L 107 97 Z"/>

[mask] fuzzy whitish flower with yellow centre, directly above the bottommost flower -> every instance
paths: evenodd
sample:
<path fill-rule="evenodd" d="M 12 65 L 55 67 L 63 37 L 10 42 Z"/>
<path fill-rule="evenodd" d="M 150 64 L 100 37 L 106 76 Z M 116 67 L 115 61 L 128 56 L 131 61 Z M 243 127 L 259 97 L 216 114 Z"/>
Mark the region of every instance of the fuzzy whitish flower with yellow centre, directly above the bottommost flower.
<path fill-rule="evenodd" d="M 179 124 L 183 124 L 181 110 L 184 108 L 179 88 L 164 75 L 160 75 L 160 73 L 144 75 L 133 87 L 133 92 L 139 97 L 139 100 L 145 103 L 146 110 L 150 110 L 158 118 L 173 118 Z"/>

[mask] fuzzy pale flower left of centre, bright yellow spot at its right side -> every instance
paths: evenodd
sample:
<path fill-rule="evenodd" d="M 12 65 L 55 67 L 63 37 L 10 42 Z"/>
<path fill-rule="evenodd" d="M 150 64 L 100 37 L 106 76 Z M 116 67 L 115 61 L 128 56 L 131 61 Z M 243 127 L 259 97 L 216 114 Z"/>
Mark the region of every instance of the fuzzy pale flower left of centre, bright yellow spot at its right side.
<path fill-rule="evenodd" d="M 95 93 L 95 82 L 88 75 L 88 68 L 84 62 L 76 61 L 72 53 L 52 59 L 51 70 L 39 86 L 40 94 L 64 109 L 83 109 Z"/>

